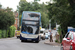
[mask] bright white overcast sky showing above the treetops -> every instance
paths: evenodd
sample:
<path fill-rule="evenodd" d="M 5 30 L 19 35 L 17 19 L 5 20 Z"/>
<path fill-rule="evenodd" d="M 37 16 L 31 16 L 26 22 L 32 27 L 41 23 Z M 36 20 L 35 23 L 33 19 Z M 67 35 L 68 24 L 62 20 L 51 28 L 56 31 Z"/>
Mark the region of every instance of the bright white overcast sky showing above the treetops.
<path fill-rule="evenodd" d="M 3 6 L 3 8 L 12 8 L 13 11 L 16 11 L 17 5 L 19 5 L 20 0 L 0 0 L 0 4 Z M 28 2 L 34 1 L 34 0 L 26 0 Z M 48 2 L 50 0 L 41 0 L 39 3 L 42 2 Z"/>

